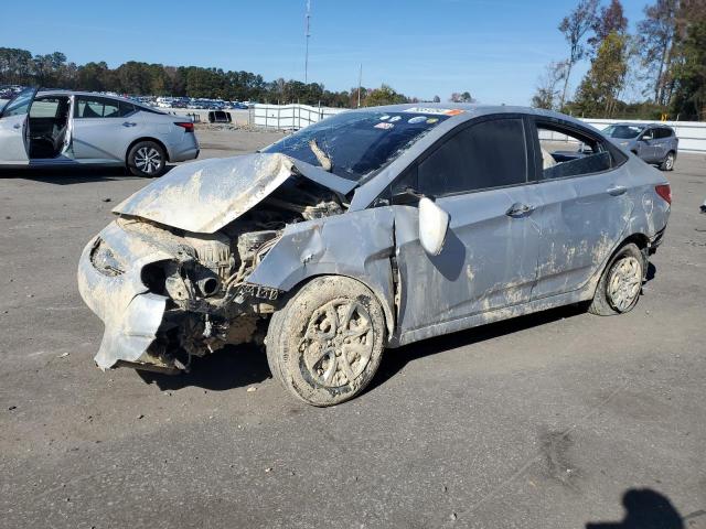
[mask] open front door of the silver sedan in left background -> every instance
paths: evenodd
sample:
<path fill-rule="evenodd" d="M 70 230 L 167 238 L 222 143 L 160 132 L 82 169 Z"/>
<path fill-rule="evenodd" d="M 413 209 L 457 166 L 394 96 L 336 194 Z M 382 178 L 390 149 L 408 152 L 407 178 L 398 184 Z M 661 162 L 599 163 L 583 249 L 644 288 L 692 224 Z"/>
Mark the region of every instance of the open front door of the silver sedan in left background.
<path fill-rule="evenodd" d="M 0 164 L 26 165 L 29 116 L 38 88 L 25 88 L 0 114 Z"/>

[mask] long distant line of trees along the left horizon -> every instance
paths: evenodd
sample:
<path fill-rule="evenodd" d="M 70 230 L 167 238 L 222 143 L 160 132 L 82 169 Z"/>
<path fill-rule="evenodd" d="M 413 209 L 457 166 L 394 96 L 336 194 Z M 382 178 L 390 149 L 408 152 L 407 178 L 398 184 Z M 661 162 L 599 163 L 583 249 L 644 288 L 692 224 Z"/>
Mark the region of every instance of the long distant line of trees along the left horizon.
<path fill-rule="evenodd" d="M 301 83 L 279 78 L 266 82 L 250 72 L 232 72 L 200 66 L 164 66 L 129 61 L 116 68 L 105 62 L 83 65 L 68 62 L 66 55 L 54 52 L 32 55 L 28 50 L 0 47 L 0 84 L 32 85 L 46 88 L 68 88 L 88 91 L 113 91 L 126 95 L 150 95 L 213 98 L 237 101 L 302 102 L 329 107 L 418 102 L 415 97 L 397 93 L 388 85 L 378 88 L 328 90 L 320 83 Z M 435 101 L 440 101 L 436 96 Z M 468 91 L 453 93 L 449 100 L 471 101 Z"/>

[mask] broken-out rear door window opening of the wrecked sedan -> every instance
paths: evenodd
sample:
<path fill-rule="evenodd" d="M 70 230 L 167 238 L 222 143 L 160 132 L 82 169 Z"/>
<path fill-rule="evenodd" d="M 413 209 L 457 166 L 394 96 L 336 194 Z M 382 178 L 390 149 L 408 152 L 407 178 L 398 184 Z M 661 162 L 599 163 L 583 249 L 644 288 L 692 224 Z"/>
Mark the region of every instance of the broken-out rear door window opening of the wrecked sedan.
<path fill-rule="evenodd" d="M 541 180 L 564 179 L 607 171 L 610 151 L 596 138 L 555 123 L 537 123 Z"/>

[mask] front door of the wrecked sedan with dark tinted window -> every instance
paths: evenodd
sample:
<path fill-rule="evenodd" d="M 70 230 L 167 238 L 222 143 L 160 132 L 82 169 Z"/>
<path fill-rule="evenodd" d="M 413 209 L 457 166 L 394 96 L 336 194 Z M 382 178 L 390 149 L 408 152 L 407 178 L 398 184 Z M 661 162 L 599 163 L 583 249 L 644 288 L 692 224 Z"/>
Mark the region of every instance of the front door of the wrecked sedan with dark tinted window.
<path fill-rule="evenodd" d="M 526 128 L 522 116 L 505 116 L 462 126 L 393 185 L 393 198 L 414 187 L 450 215 L 446 244 L 430 256 L 419 242 L 417 207 L 395 207 L 403 339 L 530 300 L 539 231 Z"/>

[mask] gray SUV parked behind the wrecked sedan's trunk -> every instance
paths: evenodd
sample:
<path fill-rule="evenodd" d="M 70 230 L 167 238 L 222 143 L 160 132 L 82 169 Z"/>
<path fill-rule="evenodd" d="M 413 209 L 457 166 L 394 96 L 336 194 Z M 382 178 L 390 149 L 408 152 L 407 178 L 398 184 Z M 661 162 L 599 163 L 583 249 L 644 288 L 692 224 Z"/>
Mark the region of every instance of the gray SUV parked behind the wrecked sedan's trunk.
<path fill-rule="evenodd" d="M 613 123 L 603 129 L 603 134 L 645 162 L 659 165 L 662 171 L 674 169 L 680 139 L 671 127 Z"/>

